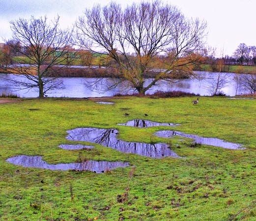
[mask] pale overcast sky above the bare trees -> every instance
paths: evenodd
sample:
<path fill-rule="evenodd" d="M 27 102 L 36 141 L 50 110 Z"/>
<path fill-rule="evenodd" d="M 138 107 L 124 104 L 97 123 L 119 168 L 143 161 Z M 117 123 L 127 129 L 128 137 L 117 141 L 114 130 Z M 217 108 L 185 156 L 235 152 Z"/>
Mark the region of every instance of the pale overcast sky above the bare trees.
<path fill-rule="evenodd" d="M 0 42 L 11 38 L 9 21 L 29 19 L 31 15 L 60 16 L 62 27 L 68 27 L 94 3 L 111 0 L 0 0 Z M 114 0 L 125 5 L 141 0 Z M 208 45 L 224 55 L 232 55 L 240 43 L 256 46 L 256 0 L 163 0 L 177 6 L 186 17 L 205 20 Z"/>

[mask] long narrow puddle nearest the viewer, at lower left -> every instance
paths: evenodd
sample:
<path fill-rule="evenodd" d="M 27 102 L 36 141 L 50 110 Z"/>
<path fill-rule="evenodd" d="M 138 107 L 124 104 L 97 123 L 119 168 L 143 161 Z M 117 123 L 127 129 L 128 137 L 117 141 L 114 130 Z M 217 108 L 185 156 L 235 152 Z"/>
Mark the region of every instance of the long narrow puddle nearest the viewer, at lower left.
<path fill-rule="evenodd" d="M 89 170 L 96 173 L 102 173 L 108 169 L 114 169 L 117 167 L 129 166 L 127 162 L 108 162 L 108 161 L 85 161 L 83 163 L 70 163 L 70 164 L 47 164 L 39 156 L 26 156 L 20 155 L 11 157 L 6 160 L 8 163 L 24 166 L 34 167 L 50 170 Z"/>

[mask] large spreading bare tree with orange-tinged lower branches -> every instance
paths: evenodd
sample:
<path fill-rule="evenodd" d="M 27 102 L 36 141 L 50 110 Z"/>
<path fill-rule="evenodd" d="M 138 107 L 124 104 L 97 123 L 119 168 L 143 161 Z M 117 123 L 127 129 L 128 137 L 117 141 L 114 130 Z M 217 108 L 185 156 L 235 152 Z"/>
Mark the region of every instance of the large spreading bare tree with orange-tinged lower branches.
<path fill-rule="evenodd" d="M 205 22 L 188 20 L 160 0 L 133 3 L 125 9 L 114 2 L 94 5 L 79 17 L 76 27 L 79 45 L 108 55 L 109 66 L 141 94 L 160 80 L 191 75 L 206 36 Z M 152 71 L 156 74 L 145 85 Z"/>

